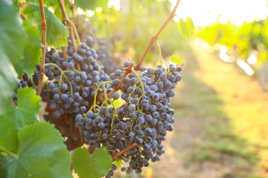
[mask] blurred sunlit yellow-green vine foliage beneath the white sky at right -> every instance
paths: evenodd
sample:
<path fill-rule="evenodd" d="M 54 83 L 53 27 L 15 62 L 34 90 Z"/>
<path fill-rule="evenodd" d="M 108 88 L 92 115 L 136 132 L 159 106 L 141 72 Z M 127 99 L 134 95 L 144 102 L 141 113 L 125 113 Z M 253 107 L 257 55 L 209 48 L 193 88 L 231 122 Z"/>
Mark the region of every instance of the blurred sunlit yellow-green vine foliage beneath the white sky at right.
<path fill-rule="evenodd" d="M 210 45 L 219 43 L 228 48 L 228 53 L 246 59 L 250 51 L 258 51 L 260 61 L 265 60 L 265 51 L 268 50 L 268 21 L 253 21 L 243 23 L 241 27 L 231 22 L 219 22 L 199 27 L 196 36 L 203 38 Z"/>

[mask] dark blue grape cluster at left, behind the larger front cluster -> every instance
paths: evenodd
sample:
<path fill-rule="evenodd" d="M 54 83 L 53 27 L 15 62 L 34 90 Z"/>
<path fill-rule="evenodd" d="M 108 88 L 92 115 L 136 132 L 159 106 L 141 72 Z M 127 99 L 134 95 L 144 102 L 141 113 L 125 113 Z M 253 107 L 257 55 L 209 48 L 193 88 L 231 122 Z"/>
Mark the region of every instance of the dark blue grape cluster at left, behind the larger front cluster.
<path fill-rule="evenodd" d="M 96 87 L 102 81 L 108 81 L 109 75 L 104 73 L 103 66 L 98 63 L 98 54 L 87 44 L 93 42 L 89 36 L 80 44 L 77 52 L 68 40 L 67 57 L 63 51 L 52 48 L 46 51 L 45 82 L 41 97 L 54 110 L 54 116 L 61 114 L 85 112 L 92 101 Z M 84 107 L 82 107 L 84 106 Z"/>

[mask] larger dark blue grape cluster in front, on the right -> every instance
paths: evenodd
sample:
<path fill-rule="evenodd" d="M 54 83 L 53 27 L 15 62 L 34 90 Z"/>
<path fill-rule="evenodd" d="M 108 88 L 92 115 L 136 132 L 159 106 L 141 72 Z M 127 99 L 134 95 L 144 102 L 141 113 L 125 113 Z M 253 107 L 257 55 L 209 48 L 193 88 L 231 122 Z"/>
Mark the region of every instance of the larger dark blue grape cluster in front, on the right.
<path fill-rule="evenodd" d="M 129 65 L 130 62 L 124 62 L 124 67 Z M 85 142 L 92 147 L 107 147 L 111 155 L 136 143 L 136 147 L 120 155 L 120 159 L 129 162 L 128 168 L 122 168 L 127 172 L 141 173 L 149 160 L 158 161 L 164 153 L 161 142 L 166 131 L 173 129 L 171 123 L 175 120 L 170 99 L 175 96 L 172 89 L 181 80 L 181 69 L 170 64 L 168 68 L 141 67 L 141 73 L 127 74 L 120 69 L 111 73 L 110 87 L 115 88 L 123 80 L 122 94 L 115 92 L 107 104 L 76 116 L 76 127 L 84 133 Z M 111 101 L 120 98 L 125 102 L 122 107 L 109 107 Z"/>

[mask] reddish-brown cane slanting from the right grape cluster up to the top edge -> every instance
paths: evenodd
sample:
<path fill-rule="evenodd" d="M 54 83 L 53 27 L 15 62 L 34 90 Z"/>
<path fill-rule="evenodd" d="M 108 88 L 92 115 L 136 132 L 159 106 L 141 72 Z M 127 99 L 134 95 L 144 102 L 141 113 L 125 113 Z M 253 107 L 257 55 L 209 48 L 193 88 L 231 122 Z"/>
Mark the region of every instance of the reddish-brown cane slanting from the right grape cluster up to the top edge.
<path fill-rule="evenodd" d="M 178 8 L 179 2 L 181 0 L 178 0 L 174 9 L 172 10 L 172 12 L 170 13 L 170 15 L 168 16 L 168 18 L 166 19 L 165 23 L 161 26 L 161 28 L 157 31 L 157 34 L 155 36 L 152 36 L 150 38 L 150 43 L 148 44 L 148 47 L 146 48 L 146 50 L 144 51 L 144 54 L 142 55 L 142 58 L 139 60 L 139 62 L 137 63 L 137 65 L 135 66 L 134 70 L 138 71 L 140 66 L 142 65 L 142 62 L 144 61 L 144 58 L 146 57 L 148 51 L 150 50 L 150 48 L 153 46 L 153 44 L 157 41 L 158 36 L 161 34 L 161 32 L 164 30 L 164 28 L 166 27 L 166 25 L 168 25 L 169 21 L 176 15 L 176 10 Z"/>

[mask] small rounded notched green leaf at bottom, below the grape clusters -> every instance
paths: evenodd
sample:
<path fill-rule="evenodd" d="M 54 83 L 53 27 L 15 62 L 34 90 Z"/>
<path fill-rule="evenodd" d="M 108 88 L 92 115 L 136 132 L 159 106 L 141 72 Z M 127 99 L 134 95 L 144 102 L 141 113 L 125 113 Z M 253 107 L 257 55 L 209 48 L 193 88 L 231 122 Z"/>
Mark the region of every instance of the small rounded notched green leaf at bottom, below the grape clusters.
<path fill-rule="evenodd" d="M 78 148 L 71 157 L 74 171 L 80 178 L 97 178 L 107 175 L 111 168 L 111 156 L 104 149 L 96 149 L 93 155 L 86 148 Z"/>

